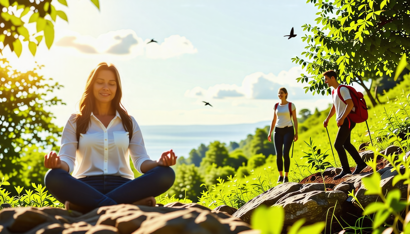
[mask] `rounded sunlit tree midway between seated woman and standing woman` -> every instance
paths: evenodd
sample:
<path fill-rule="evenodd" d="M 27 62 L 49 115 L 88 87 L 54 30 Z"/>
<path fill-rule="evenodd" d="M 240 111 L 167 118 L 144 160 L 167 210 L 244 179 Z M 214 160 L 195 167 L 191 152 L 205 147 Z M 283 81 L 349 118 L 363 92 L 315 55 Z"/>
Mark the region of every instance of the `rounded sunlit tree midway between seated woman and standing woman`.
<path fill-rule="evenodd" d="M 216 164 L 216 167 L 224 166 L 228 156 L 228 150 L 226 150 L 223 143 L 219 141 L 210 143 L 209 150 L 205 153 L 205 158 L 200 163 L 200 171 L 207 171 L 207 168 L 212 164 Z"/>

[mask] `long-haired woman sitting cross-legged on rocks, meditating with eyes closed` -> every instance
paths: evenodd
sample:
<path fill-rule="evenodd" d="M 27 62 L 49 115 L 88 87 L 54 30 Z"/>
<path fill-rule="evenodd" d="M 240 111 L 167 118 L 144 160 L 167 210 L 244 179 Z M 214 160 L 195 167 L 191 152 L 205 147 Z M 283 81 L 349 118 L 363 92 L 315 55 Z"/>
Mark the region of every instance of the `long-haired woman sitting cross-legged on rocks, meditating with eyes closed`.
<path fill-rule="evenodd" d="M 100 63 L 91 71 L 80 101 L 80 113 L 64 127 L 57 156 L 44 166 L 48 191 L 66 209 L 82 213 L 114 204 L 155 206 L 155 196 L 175 180 L 172 150 L 150 160 L 137 121 L 121 105 L 121 81 L 114 65 Z M 134 179 L 134 167 L 144 173 Z M 72 175 L 70 175 L 72 173 Z"/>

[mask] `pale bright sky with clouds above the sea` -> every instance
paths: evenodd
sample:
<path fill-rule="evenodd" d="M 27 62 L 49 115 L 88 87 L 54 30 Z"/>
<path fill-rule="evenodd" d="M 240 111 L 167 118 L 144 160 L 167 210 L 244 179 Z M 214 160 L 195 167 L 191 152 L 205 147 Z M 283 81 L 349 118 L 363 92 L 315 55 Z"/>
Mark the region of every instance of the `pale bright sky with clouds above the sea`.
<path fill-rule="evenodd" d="M 68 23 L 55 23 L 52 48 L 42 42 L 35 57 L 27 47 L 20 59 L 3 54 L 21 70 L 44 64 L 41 74 L 65 86 L 55 94 L 67 105 L 51 109 L 58 125 L 78 110 L 101 61 L 118 68 L 125 107 L 139 125 L 271 120 L 281 86 L 297 111 L 331 102 L 305 94 L 295 80 L 301 70 L 291 58 L 306 46 L 301 26 L 315 24 L 318 11 L 305 1 L 100 0 L 100 11 L 89 0 L 68 1 L 68 8 L 53 3 Z M 298 36 L 288 40 L 292 27 Z M 146 44 L 151 39 L 158 44 Z"/>

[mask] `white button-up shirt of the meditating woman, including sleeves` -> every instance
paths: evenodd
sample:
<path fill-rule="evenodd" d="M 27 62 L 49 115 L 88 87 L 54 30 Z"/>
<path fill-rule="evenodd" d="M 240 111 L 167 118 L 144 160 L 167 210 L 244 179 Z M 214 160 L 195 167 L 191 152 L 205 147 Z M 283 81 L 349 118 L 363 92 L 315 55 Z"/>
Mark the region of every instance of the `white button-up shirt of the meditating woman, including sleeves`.
<path fill-rule="evenodd" d="M 141 129 L 134 117 L 132 119 L 132 139 L 125 131 L 118 111 L 108 127 L 91 113 L 91 124 L 85 134 L 80 134 L 80 141 L 75 135 L 77 123 L 73 114 L 67 121 L 61 137 L 58 153 L 61 161 L 68 164 L 69 173 L 75 178 L 93 175 L 119 175 L 134 179 L 130 167 L 130 156 L 135 169 L 141 172 L 141 164 L 150 160 L 147 155 Z M 78 149 L 77 149 L 78 145 Z"/>

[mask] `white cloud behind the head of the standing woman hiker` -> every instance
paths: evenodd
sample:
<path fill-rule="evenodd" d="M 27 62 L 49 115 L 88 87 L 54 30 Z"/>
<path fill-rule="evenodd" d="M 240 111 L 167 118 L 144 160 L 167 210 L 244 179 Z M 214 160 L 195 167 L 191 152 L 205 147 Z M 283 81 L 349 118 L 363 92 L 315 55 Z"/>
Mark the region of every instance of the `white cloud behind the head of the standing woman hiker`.
<path fill-rule="evenodd" d="M 216 84 L 203 89 L 194 87 L 187 90 L 185 96 L 191 98 L 239 98 L 239 99 L 276 99 L 277 91 L 280 87 L 285 87 L 288 91 L 289 98 L 292 99 L 311 99 L 312 94 L 305 94 L 303 87 L 306 83 L 296 81 L 303 73 L 300 67 L 290 68 L 288 71 L 281 71 L 278 75 L 273 73 L 264 74 L 262 72 L 252 73 L 244 77 L 241 86 L 236 84 Z"/>

